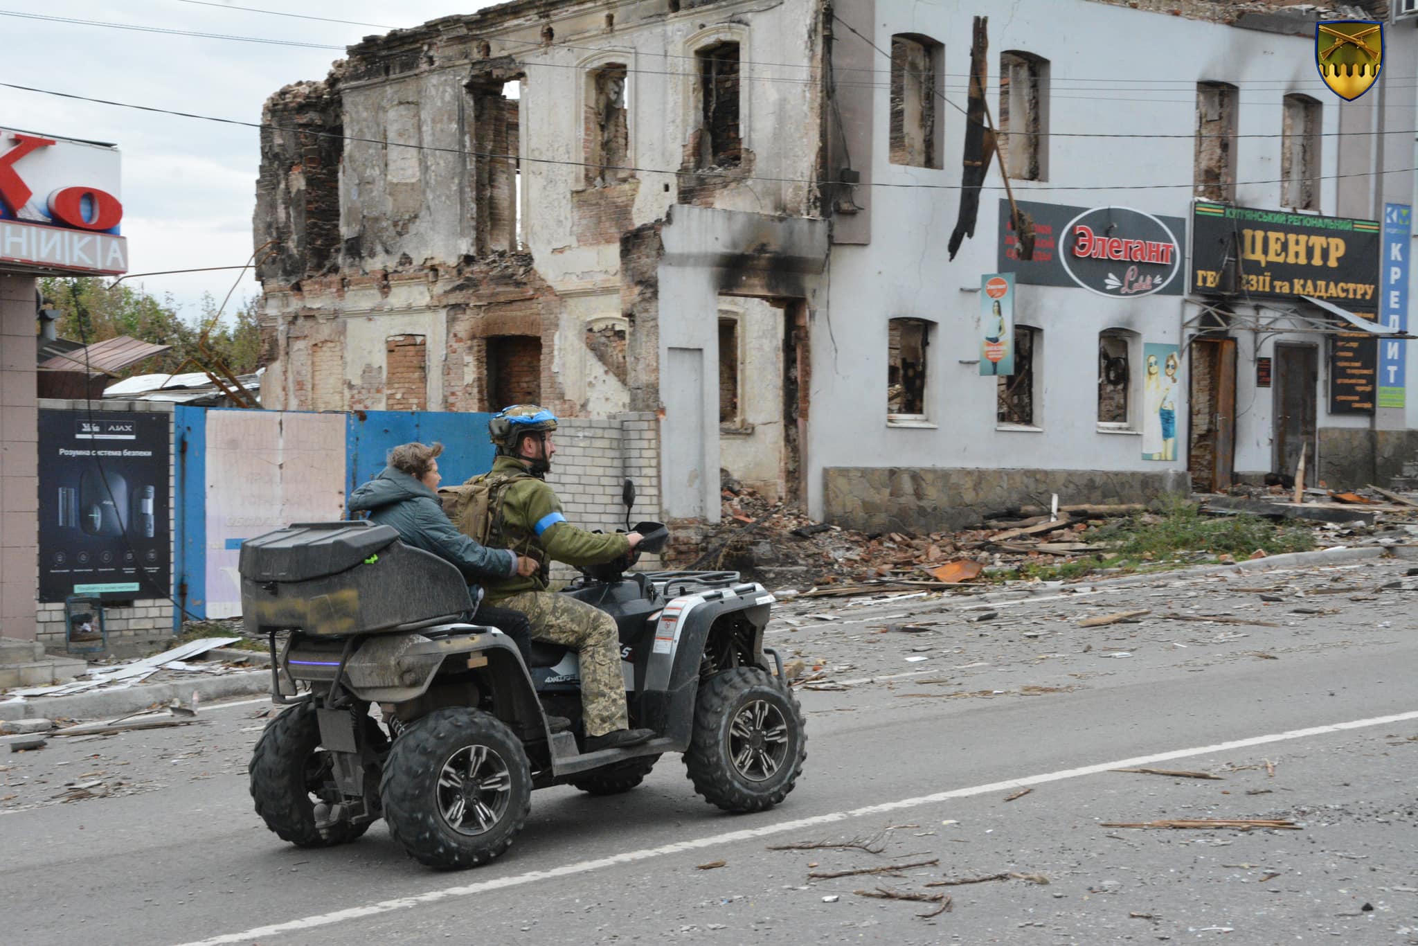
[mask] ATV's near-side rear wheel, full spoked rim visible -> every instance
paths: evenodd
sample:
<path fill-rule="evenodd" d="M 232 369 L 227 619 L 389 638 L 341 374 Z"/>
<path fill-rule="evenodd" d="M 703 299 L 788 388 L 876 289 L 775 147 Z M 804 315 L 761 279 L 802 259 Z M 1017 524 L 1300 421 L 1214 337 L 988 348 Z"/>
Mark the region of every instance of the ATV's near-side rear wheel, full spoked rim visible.
<path fill-rule="evenodd" d="M 478 709 L 435 709 L 406 729 L 380 784 L 389 833 L 428 867 L 498 857 L 526 824 L 532 769 L 508 726 Z"/>

